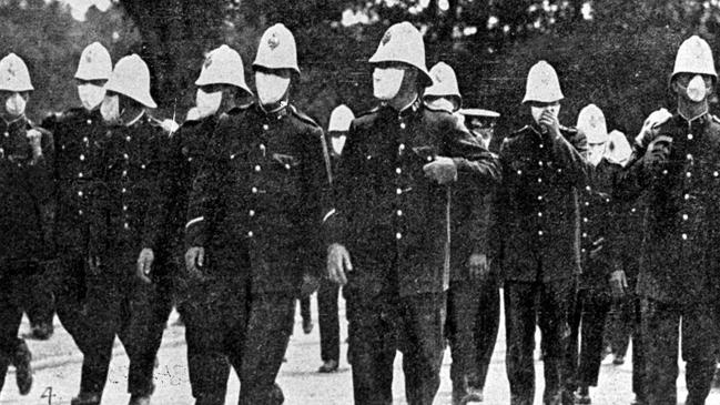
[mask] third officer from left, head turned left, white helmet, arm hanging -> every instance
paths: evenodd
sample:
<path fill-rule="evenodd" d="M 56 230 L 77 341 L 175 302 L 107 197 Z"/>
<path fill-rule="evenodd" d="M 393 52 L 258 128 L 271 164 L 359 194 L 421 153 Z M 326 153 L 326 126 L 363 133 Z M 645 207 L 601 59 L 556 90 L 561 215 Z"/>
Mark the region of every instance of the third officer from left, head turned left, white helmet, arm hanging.
<path fill-rule="evenodd" d="M 153 366 L 171 311 L 166 237 L 170 189 L 168 133 L 145 109 L 150 71 L 132 54 L 115 64 L 100 112 L 109 128 L 102 155 L 103 191 L 91 210 L 102 237 L 85 297 L 89 334 L 80 393 L 73 405 L 99 404 L 115 335 L 130 357 L 131 405 L 150 403 Z M 84 191 L 78 191 L 85 198 Z"/>

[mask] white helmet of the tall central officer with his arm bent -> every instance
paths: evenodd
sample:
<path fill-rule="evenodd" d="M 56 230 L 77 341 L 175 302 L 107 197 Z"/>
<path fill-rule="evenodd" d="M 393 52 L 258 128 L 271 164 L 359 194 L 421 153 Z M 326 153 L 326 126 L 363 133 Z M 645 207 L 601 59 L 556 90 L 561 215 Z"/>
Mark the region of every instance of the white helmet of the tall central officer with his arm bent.
<path fill-rule="evenodd" d="M 425 87 L 433 84 L 433 78 L 425 64 L 423 34 L 407 21 L 393 24 L 385 31 L 371 63 L 400 62 L 417 68 L 423 74 Z"/>

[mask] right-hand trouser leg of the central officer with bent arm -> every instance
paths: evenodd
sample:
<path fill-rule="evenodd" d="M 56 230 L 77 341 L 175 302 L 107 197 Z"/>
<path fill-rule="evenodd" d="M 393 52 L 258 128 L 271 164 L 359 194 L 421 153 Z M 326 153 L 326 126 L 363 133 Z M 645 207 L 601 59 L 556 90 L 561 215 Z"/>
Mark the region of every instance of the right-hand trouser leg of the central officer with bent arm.
<path fill-rule="evenodd" d="M 440 386 L 445 294 L 402 297 L 398 304 L 405 396 L 408 405 L 432 405 Z"/>

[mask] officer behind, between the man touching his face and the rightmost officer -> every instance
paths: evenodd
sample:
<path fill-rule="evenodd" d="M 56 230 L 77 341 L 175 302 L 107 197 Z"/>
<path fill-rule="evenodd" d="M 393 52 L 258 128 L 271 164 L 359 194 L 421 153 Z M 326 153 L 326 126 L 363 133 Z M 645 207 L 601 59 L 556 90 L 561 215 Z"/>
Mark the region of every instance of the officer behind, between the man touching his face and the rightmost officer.
<path fill-rule="evenodd" d="M 612 199 L 622 166 L 606 159 L 610 138 L 602 110 L 586 105 L 577 129 L 587 138 L 590 181 L 579 193 L 582 274 L 570 313 L 567 358 L 571 374 L 566 382 L 569 391 L 577 389 L 576 403 L 590 404 L 589 387 L 598 384 L 612 297 L 621 297 L 628 287 L 618 244 L 623 212 Z"/>

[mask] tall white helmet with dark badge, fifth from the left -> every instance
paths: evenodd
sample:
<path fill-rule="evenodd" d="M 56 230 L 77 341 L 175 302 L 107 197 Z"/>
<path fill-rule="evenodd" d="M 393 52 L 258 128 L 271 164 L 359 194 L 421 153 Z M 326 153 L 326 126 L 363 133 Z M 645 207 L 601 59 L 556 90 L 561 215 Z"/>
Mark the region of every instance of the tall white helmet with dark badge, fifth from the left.
<path fill-rule="evenodd" d="M 295 37 L 281 24 L 274 24 L 265 30 L 257 45 L 257 54 L 253 68 L 292 69 L 300 74 L 297 67 L 297 47 Z"/>

